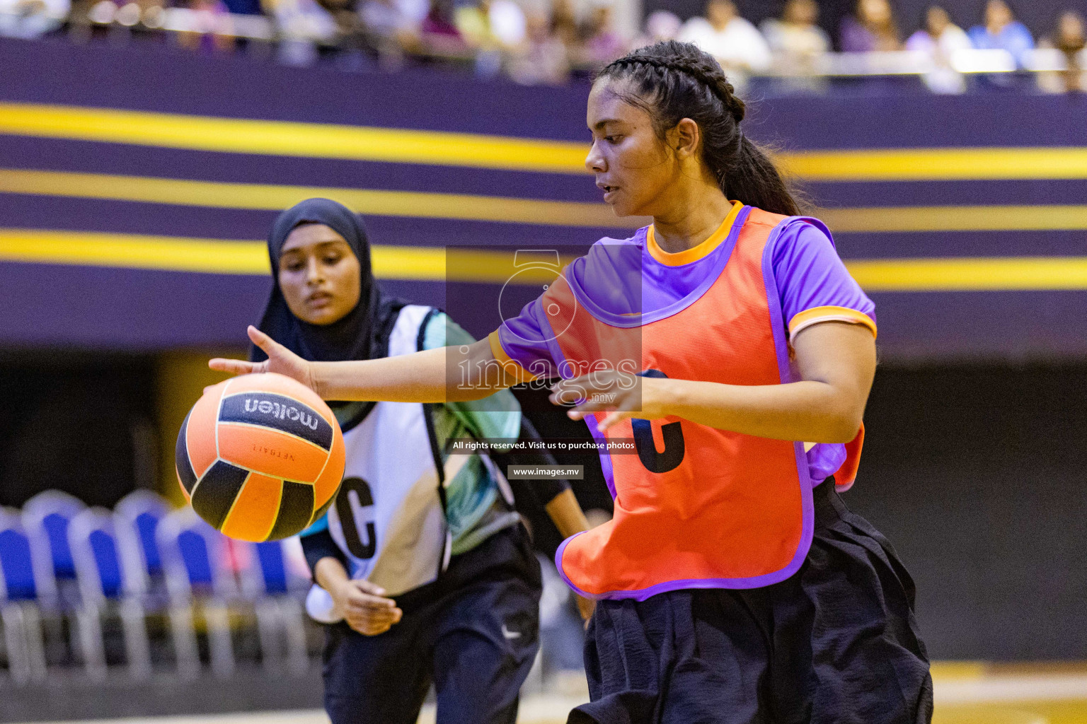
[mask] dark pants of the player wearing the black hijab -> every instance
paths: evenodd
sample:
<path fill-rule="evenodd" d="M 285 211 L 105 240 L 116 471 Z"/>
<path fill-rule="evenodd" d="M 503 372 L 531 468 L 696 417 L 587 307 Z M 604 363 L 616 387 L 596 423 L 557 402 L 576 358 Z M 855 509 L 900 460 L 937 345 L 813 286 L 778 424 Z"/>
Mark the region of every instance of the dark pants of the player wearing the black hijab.
<path fill-rule="evenodd" d="M 454 556 L 436 582 L 397 596 L 400 623 L 363 636 L 327 626 L 333 724 L 415 724 L 433 682 L 438 724 L 513 724 L 539 648 L 539 563 L 521 525 Z"/>

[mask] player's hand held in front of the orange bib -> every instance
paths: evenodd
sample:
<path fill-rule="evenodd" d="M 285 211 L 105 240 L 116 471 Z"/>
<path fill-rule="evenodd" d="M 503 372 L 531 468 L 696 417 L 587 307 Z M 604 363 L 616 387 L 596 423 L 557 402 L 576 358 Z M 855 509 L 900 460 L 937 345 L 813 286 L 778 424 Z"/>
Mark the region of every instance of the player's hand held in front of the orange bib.
<path fill-rule="evenodd" d="M 582 420 L 592 412 L 608 412 L 597 427 L 602 431 L 637 417 L 655 420 L 665 417 L 664 386 L 667 380 L 640 377 L 619 370 L 588 372 L 551 385 L 550 399 L 555 405 L 574 407 L 566 412 L 572 420 Z"/>

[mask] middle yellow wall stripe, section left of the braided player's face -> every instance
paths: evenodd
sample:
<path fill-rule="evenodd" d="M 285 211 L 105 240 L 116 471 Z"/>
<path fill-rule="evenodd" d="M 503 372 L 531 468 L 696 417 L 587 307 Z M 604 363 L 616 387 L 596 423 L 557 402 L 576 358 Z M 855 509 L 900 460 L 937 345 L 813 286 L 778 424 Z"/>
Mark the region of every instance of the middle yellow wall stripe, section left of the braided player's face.
<path fill-rule="evenodd" d="M 635 217 L 619 218 L 603 203 L 12 168 L 0 169 L 0 192 L 261 211 L 282 211 L 305 199 L 324 196 L 360 214 L 378 216 L 603 228 L 638 228 L 647 223 Z"/>

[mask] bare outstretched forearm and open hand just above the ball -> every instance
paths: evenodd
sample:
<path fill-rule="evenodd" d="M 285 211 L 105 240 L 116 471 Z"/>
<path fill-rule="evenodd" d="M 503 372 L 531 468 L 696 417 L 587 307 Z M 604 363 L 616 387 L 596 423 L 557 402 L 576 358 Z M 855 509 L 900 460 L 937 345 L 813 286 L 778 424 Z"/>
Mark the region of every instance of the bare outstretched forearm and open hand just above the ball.
<path fill-rule="evenodd" d="M 248 332 L 267 359 L 250 363 L 216 357 L 208 366 L 233 374 L 286 374 L 325 399 L 463 402 L 480 399 L 520 381 L 514 368 L 495 359 L 487 340 L 380 359 L 321 363 L 302 359 L 255 327 Z"/>

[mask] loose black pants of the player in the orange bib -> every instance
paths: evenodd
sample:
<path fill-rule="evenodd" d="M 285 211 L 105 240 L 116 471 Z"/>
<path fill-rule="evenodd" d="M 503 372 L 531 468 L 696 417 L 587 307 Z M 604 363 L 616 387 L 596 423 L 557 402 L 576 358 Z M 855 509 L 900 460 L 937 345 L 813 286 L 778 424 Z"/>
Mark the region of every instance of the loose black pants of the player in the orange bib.
<path fill-rule="evenodd" d="M 800 570 L 747 590 L 600 601 L 569 724 L 927 724 L 914 587 L 890 544 L 815 488 Z"/>

